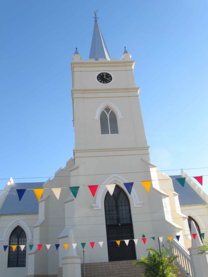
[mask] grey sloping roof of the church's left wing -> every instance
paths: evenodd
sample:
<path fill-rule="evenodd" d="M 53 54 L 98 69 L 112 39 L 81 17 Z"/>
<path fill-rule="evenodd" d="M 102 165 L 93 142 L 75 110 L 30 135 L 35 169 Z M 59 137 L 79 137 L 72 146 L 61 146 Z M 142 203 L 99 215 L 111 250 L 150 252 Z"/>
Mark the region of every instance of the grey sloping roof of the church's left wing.
<path fill-rule="evenodd" d="M 1 206 L 0 215 L 3 214 L 36 214 L 38 213 L 38 199 L 32 189 L 42 188 L 44 182 L 38 183 L 14 183 L 11 190 Z M 31 189 L 26 190 L 21 201 L 19 201 L 16 189 Z M 3 192 L 6 193 L 6 192 Z"/>

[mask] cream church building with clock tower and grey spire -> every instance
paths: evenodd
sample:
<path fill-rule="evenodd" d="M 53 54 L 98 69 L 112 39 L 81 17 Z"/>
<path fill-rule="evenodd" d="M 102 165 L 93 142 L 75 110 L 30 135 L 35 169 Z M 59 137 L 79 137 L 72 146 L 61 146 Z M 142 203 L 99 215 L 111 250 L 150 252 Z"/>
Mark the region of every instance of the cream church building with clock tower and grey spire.
<path fill-rule="evenodd" d="M 110 57 L 95 20 L 88 61 L 76 49 L 71 62 L 73 158 L 45 183 L 10 178 L 0 196 L 0 276 L 80 277 L 81 243 L 85 263 L 140 259 L 148 247 L 158 248 L 157 237 L 166 244 L 172 236 L 187 251 L 188 217 L 208 237 L 208 196 L 186 176 L 186 203 L 176 177 L 159 173 L 150 161 L 134 64 L 126 48 L 120 60 Z M 151 181 L 149 192 L 141 181 Z M 98 186 L 94 196 L 88 186 Z M 69 187 L 79 187 L 76 197 Z M 39 201 L 33 192 L 38 188 L 44 189 Z M 59 199 L 52 188 L 60 188 L 54 190 Z M 16 189 L 26 189 L 21 201 Z M 23 251 L 19 245 L 26 245 Z"/>

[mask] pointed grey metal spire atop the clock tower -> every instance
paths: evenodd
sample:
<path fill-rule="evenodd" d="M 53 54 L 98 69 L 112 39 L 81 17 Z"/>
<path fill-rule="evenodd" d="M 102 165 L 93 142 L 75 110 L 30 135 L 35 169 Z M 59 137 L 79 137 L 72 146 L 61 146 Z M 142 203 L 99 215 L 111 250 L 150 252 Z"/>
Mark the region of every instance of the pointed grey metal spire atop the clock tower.
<path fill-rule="evenodd" d="M 107 45 L 105 44 L 105 40 L 97 20 L 94 21 L 89 59 L 95 59 L 96 61 L 99 59 L 110 59 L 110 54 L 108 52 Z"/>

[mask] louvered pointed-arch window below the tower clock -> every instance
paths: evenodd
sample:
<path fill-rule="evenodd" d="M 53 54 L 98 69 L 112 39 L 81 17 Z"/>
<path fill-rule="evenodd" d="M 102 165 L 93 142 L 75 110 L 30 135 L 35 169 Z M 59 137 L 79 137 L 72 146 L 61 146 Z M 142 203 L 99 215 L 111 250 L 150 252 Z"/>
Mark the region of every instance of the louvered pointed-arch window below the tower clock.
<path fill-rule="evenodd" d="M 118 134 L 117 117 L 111 108 L 105 108 L 100 115 L 101 134 Z"/>

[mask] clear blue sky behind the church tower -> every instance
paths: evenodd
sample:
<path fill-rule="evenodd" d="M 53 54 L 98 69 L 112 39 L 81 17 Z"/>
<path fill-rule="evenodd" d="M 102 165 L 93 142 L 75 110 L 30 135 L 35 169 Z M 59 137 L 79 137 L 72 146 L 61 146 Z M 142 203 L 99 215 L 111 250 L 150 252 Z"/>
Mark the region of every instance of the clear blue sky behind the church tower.
<path fill-rule="evenodd" d="M 96 9 L 111 57 L 120 59 L 126 46 L 136 61 L 151 162 L 161 171 L 208 167 L 206 0 L 0 5 L 0 189 L 10 177 L 54 176 L 73 156 L 70 61 L 76 46 L 88 59 Z M 208 175 L 208 169 L 186 172 Z M 207 177 L 202 188 L 208 193 Z"/>

